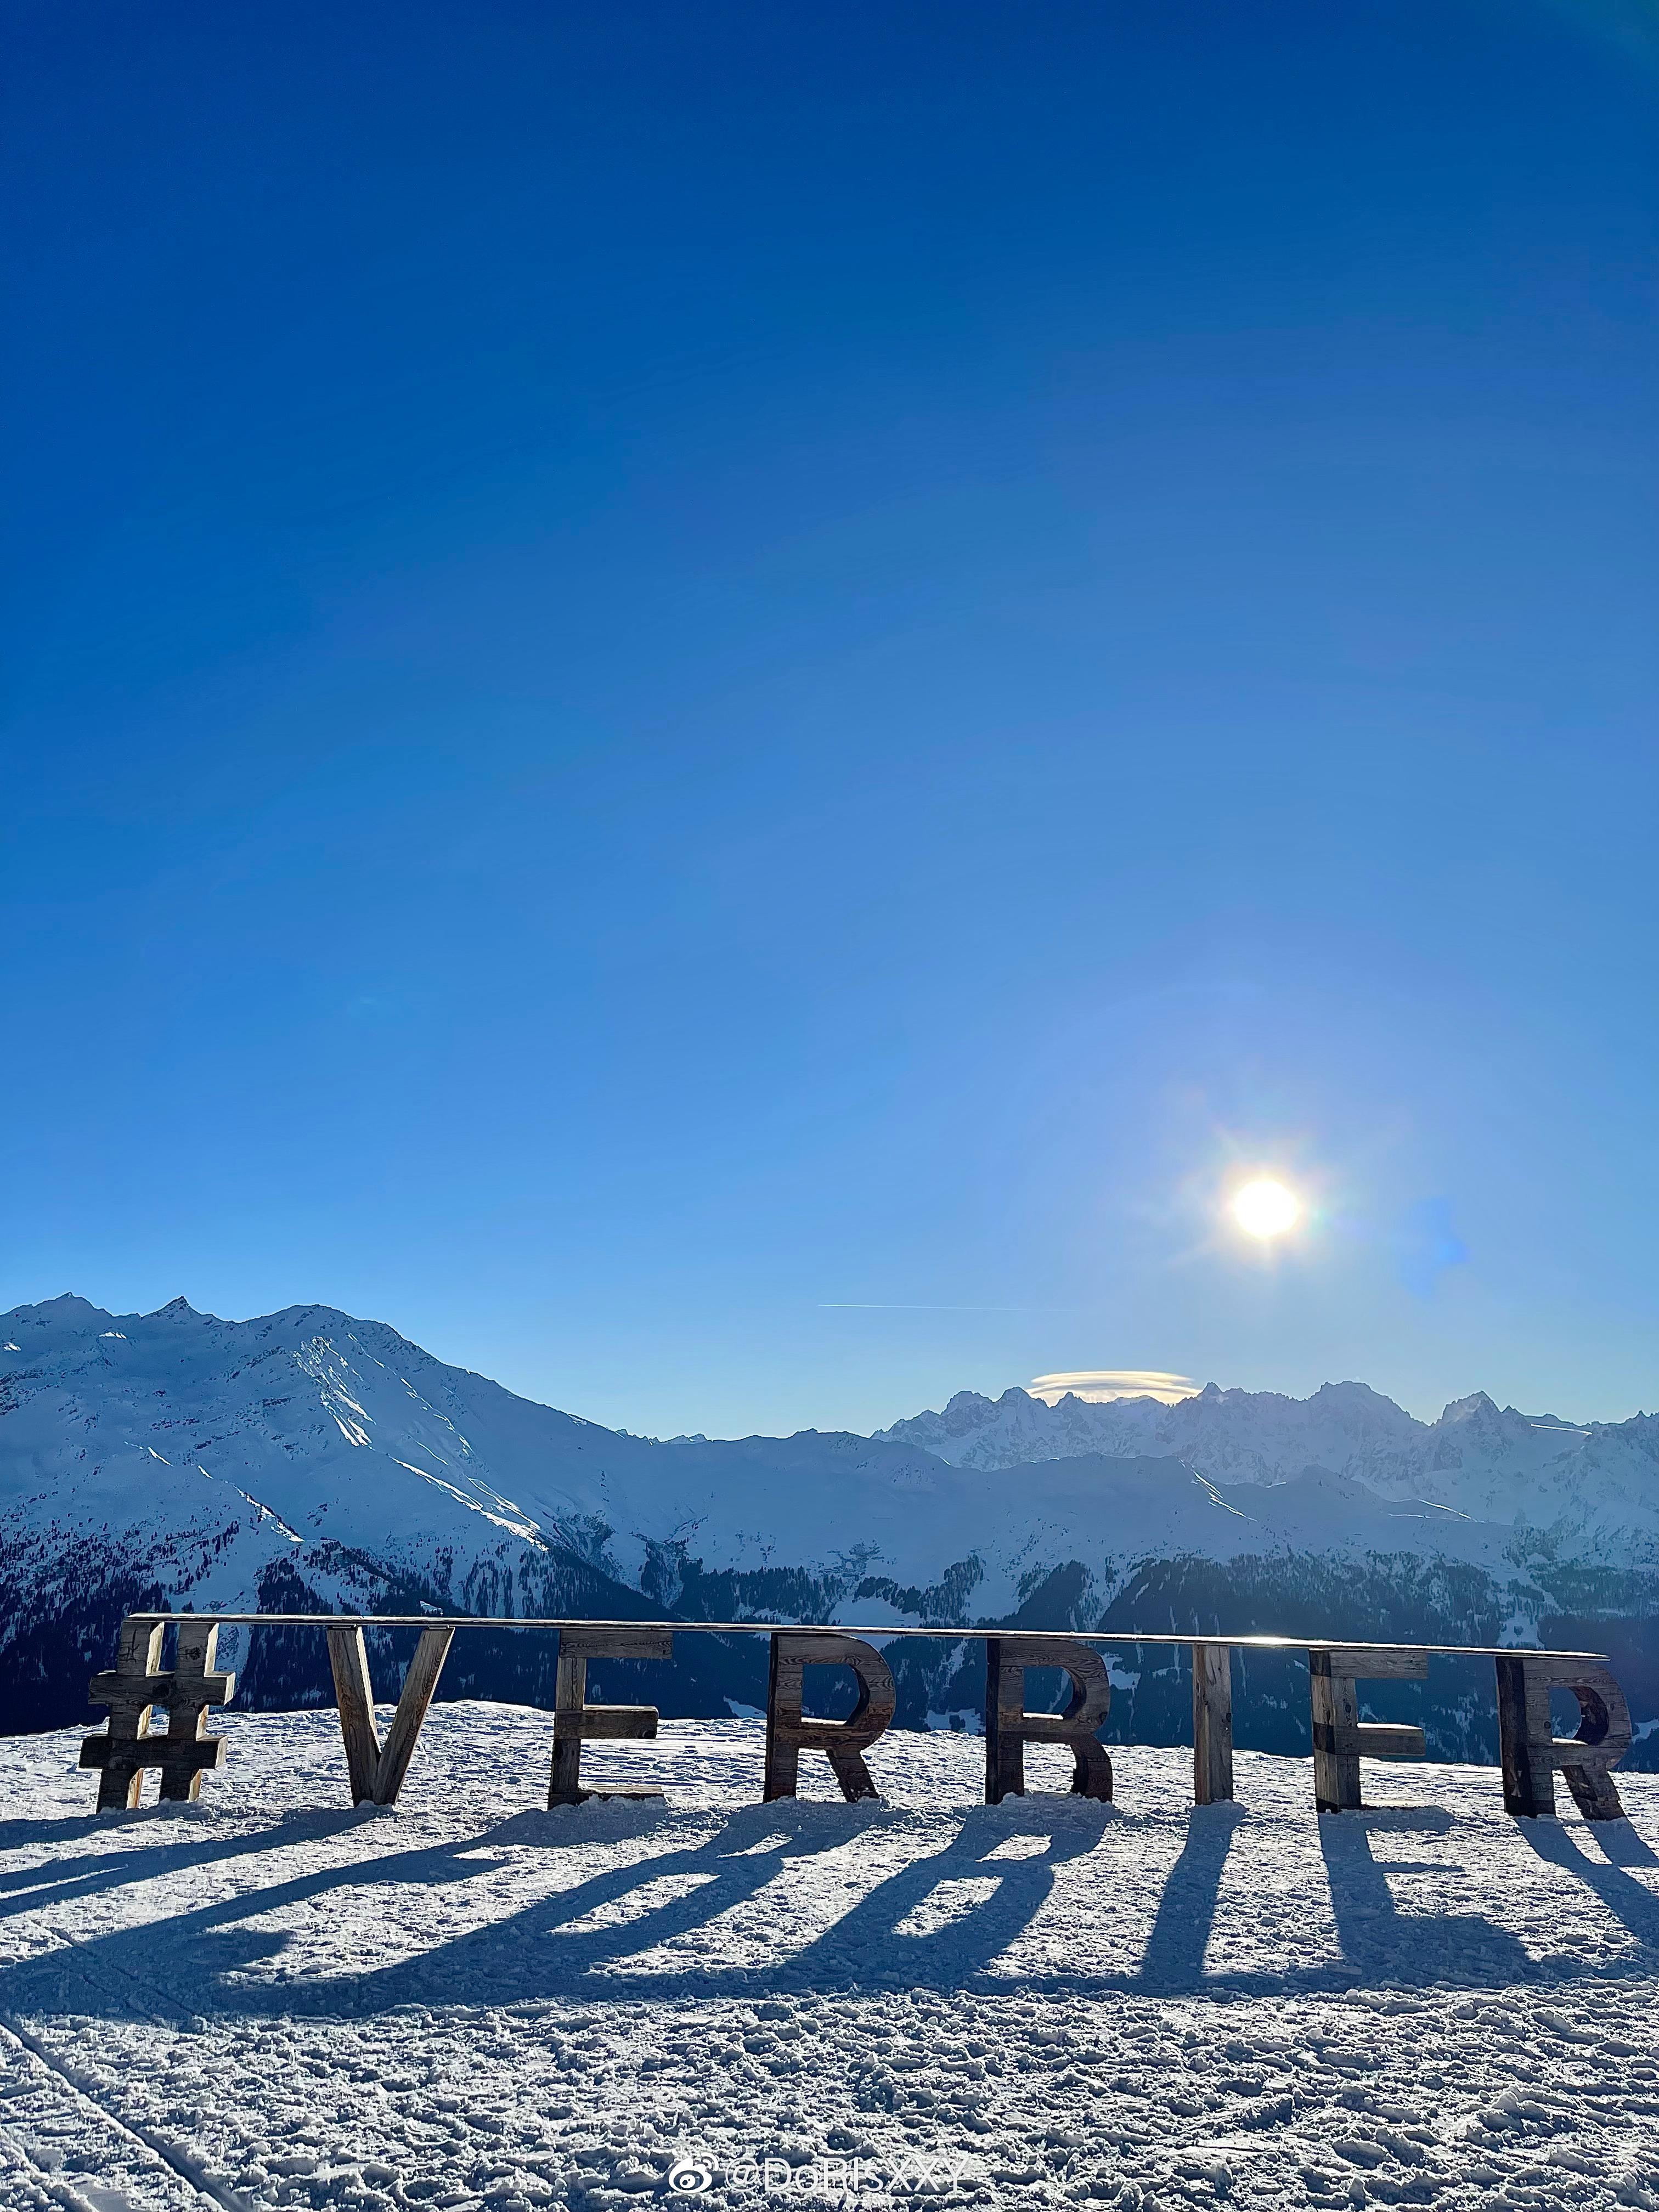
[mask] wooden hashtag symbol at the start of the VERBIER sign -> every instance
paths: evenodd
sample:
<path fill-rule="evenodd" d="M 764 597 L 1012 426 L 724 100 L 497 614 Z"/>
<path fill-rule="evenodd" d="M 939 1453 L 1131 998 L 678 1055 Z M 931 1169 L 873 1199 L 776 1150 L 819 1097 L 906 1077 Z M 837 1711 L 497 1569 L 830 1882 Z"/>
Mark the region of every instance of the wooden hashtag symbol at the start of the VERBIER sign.
<path fill-rule="evenodd" d="M 146 1767 L 161 1772 L 161 1801 L 188 1803 L 201 1796 L 201 1776 L 226 1763 L 223 1736 L 208 1734 L 208 1705 L 223 1705 L 237 1690 L 234 1674 L 219 1674 L 219 1624 L 179 1621 L 173 1668 L 161 1672 L 164 1624 L 153 1615 L 122 1621 L 115 1666 L 93 1674 L 91 1705 L 108 1705 L 108 1728 L 86 1736 L 82 1767 L 97 1767 L 97 1809 L 131 1812 L 144 1796 Z M 150 1714 L 166 1708 L 166 1730 L 150 1732 Z"/>

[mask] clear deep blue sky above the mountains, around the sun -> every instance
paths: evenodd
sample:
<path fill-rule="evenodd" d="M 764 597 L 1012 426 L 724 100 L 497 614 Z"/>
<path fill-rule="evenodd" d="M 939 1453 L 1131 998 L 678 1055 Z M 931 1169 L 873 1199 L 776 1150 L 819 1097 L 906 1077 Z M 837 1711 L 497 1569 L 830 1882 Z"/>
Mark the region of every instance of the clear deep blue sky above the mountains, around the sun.
<path fill-rule="evenodd" d="M 15 9 L 0 1303 L 1655 1407 L 1657 55 Z"/>

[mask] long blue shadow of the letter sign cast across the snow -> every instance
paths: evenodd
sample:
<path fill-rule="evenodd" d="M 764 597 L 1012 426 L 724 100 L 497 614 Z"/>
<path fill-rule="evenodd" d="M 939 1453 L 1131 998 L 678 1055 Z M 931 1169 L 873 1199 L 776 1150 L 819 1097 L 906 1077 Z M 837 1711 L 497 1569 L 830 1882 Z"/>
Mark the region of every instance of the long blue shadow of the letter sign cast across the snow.
<path fill-rule="evenodd" d="M 345 1889 L 420 1889 L 478 1880 L 495 1871 L 493 1847 L 535 1840 L 549 1849 L 591 1847 L 591 1827 L 549 1836 L 546 1816 L 513 1814 L 484 1834 L 396 1851 L 347 1865 L 319 1867 L 285 1882 L 250 1889 L 188 1913 L 153 1918 L 142 1927 L 115 1929 L 73 1949 L 31 1958 L 0 1973 L 0 2011 L 91 2013 L 102 2017 L 155 2017 L 157 2000 L 170 2004 L 184 2024 L 204 2011 L 228 2015 L 365 2015 L 394 2006 L 447 2002 L 509 2004 L 573 1997 L 593 2002 L 639 2002 L 650 1997 L 745 1997 L 757 1986 L 845 1989 L 876 1982 L 925 1989 L 1006 1991 L 1006 1978 L 991 1978 L 991 1962 L 1031 1927 L 1053 1889 L 1055 1869 L 1093 1849 L 1102 1820 L 1082 1816 L 1075 1801 L 1053 1807 L 1031 1798 L 1020 1807 L 980 1809 L 960 1820 L 956 1836 L 920 1860 L 876 1882 L 830 1929 L 799 1951 L 759 1958 L 754 1969 L 708 1964 L 695 1958 L 695 1938 L 719 1916 L 754 1900 L 770 1882 L 787 1880 L 790 1860 L 810 1860 L 843 1847 L 883 1814 L 872 1807 L 748 1805 L 730 1814 L 714 1836 L 695 1845 L 646 1851 L 557 1889 L 502 1920 L 449 1938 L 418 1958 L 372 1966 L 365 1973 L 332 1973 L 307 1980 L 250 1980 L 237 1975 L 274 1958 L 285 1947 L 281 1931 L 246 1927 L 248 1920 L 303 1905 Z M 1214 1918 L 1230 1840 L 1243 1814 L 1206 1807 L 1188 1823 L 1188 1840 L 1159 1900 L 1159 1913 L 1137 1973 L 1033 1971 L 1020 1978 L 1024 1991 L 1124 1991 L 1159 1995 L 1201 1991 L 1210 1995 L 1292 1995 L 1349 1989 L 1367 1975 L 1416 1973 L 1464 1986 L 1513 1986 L 1528 1980 L 1619 1982 L 1652 1962 L 1584 1966 L 1551 1960 L 1540 1969 L 1504 1929 L 1475 1916 L 1400 1913 L 1389 1893 L 1389 1874 L 1409 1871 L 1409 1860 L 1378 1860 L 1374 1836 L 1436 1832 L 1451 1816 L 1433 1807 L 1358 1812 L 1323 1818 L 1321 1849 L 1329 1880 L 1340 1962 L 1283 1971 L 1203 1975 L 1203 1947 Z M 341 1834 L 352 1816 L 330 1818 L 323 1834 Z M 648 1843 L 657 1823 L 624 1829 Z M 1573 1851 L 1555 1829 L 1533 1836 L 1533 1823 L 1517 1823 L 1540 1856 L 1557 1860 L 1557 1847 Z M 219 1847 L 186 1854 L 157 1871 L 248 1856 L 314 1836 L 319 1823 L 283 1823 L 279 1834 L 228 1838 Z M 1048 1851 L 1029 1858 L 995 1858 L 1009 1836 L 1046 1836 Z M 611 1840 L 611 1838 L 606 1838 Z M 173 1854 L 168 1854 L 173 1858 Z M 122 1854 L 128 1860 L 128 1854 Z M 1646 1947 L 1659 1947 L 1659 1900 L 1617 1867 L 1597 1869 L 1577 1851 L 1566 1860 Z M 1447 1874 L 1442 1863 L 1436 1874 Z M 684 1893 L 661 1898 L 628 1920 L 573 1931 L 573 1922 L 635 1898 L 664 1878 L 690 1880 Z M 931 1933 L 900 1936 L 907 1916 L 942 1882 L 993 1878 L 989 1898 Z M 115 1880 L 133 1880 L 126 1863 Z M 113 1887 L 113 1882 L 111 1882 Z M 341 1922 L 341 1942 L 349 1922 Z M 686 1964 L 677 1971 L 615 1971 L 622 1960 L 641 1958 L 659 1944 L 686 1942 Z M 131 1997 L 113 1984 L 126 1984 Z M 71 1995 L 73 1986 L 73 1995 Z M 184 1991 L 184 1995 L 179 1993 Z"/>

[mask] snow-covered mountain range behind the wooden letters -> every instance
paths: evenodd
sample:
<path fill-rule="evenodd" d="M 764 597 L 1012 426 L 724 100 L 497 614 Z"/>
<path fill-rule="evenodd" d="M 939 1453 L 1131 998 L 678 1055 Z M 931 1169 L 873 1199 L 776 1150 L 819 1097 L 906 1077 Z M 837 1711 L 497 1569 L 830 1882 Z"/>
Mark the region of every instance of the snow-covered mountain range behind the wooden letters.
<path fill-rule="evenodd" d="M 1009 1389 L 874 1438 L 655 1442 L 332 1307 L 237 1323 L 64 1296 L 0 1316 L 0 1343 L 15 1730 L 86 1717 L 84 1674 L 133 1608 L 436 1608 L 1593 1646 L 1659 1765 L 1657 1416 L 1571 1425 L 1475 1394 L 1420 1422 L 1360 1383 L 1177 1405 Z M 243 1637 L 239 1694 L 325 1694 L 319 1646 Z M 611 1672 L 670 1712 L 763 1701 L 763 1639 L 679 1648 L 672 1670 Z M 896 1646 L 900 1721 L 971 1725 L 975 1650 Z M 1489 1681 L 1438 1677 L 1380 1690 L 1378 1714 L 1491 1756 Z M 1168 1652 L 1126 1646 L 1115 1681 L 1115 1732 L 1179 1739 Z M 546 1639 L 465 1637 L 445 1690 L 546 1703 Z M 1305 1670 L 1241 1663 L 1241 1741 L 1305 1747 Z"/>

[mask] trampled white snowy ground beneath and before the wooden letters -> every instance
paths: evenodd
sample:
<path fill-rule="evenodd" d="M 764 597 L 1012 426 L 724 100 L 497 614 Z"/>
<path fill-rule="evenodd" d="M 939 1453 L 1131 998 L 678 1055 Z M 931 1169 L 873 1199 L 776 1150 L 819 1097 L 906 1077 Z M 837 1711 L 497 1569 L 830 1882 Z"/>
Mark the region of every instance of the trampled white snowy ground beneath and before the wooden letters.
<path fill-rule="evenodd" d="M 440 1705 L 349 1812 L 332 1712 L 217 1725 L 201 1805 L 104 1818 L 77 1734 L 0 1743 L 7 2208 L 1659 2208 L 1659 1776 L 1597 1829 L 1367 1763 L 1321 1820 L 1130 1747 L 991 1809 L 889 1734 L 885 1805 L 803 1754 L 765 1807 L 759 1723 L 670 1721 L 586 1754 L 666 1807 L 549 1814 L 549 1717 Z"/>

